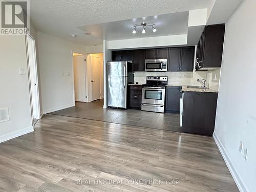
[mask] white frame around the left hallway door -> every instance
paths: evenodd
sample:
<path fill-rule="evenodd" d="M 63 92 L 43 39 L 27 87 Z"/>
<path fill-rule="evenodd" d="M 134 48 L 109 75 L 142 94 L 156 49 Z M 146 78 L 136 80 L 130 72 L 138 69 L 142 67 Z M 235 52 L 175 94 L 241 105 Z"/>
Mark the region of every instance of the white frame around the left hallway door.
<path fill-rule="evenodd" d="M 84 54 L 84 53 L 81 53 L 79 51 L 74 51 L 72 50 L 71 51 L 71 63 L 72 63 L 72 81 L 73 81 L 73 103 L 75 105 L 76 101 L 75 101 L 75 75 L 74 75 L 74 61 L 73 61 L 73 53 L 78 53 L 78 54 L 81 54 L 83 55 L 84 59 L 87 59 L 87 55 L 88 54 Z M 85 78 L 84 78 L 84 83 L 86 83 L 86 102 L 88 102 L 88 90 L 87 90 L 87 60 L 84 61 L 84 73 L 86 74 L 85 75 Z"/>

